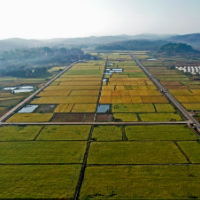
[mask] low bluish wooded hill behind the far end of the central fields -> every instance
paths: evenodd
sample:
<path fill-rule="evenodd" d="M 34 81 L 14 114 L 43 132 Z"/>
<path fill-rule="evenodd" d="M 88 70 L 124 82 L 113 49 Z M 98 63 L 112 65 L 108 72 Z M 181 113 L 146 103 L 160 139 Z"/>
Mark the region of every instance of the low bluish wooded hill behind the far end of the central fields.
<path fill-rule="evenodd" d="M 166 44 L 164 40 L 129 40 L 123 42 L 115 42 L 106 45 L 98 45 L 96 50 L 133 50 L 133 51 L 157 51 L 161 45 Z"/>

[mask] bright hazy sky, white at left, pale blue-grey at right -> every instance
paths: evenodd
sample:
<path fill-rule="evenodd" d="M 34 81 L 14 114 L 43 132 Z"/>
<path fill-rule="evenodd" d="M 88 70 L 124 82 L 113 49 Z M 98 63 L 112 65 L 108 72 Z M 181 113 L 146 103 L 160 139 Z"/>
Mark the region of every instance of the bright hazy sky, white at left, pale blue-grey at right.
<path fill-rule="evenodd" d="M 200 0 L 0 0 L 0 39 L 200 32 Z"/>

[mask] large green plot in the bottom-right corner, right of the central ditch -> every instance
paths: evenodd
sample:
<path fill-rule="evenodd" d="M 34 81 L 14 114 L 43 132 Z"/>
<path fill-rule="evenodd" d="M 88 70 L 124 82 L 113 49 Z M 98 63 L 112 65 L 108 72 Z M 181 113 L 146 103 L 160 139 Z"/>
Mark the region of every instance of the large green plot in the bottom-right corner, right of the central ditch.
<path fill-rule="evenodd" d="M 199 165 L 87 167 L 80 199 L 199 198 L 199 178 Z"/>

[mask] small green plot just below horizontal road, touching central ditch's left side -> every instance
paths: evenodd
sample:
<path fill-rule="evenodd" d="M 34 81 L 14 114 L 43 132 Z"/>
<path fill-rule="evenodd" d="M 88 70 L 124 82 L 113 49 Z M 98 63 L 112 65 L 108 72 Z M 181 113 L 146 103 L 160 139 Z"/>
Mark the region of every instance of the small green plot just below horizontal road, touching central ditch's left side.
<path fill-rule="evenodd" d="M 37 140 L 87 140 L 90 129 L 90 125 L 45 126 Z"/>

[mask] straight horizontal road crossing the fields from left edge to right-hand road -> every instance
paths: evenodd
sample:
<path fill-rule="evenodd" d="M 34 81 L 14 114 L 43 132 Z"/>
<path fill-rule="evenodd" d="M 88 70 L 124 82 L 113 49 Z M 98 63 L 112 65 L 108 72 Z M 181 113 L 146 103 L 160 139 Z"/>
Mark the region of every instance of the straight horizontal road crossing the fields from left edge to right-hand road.
<path fill-rule="evenodd" d="M 1 122 L 1 125 L 178 125 L 188 121 L 176 122 Z"/>

